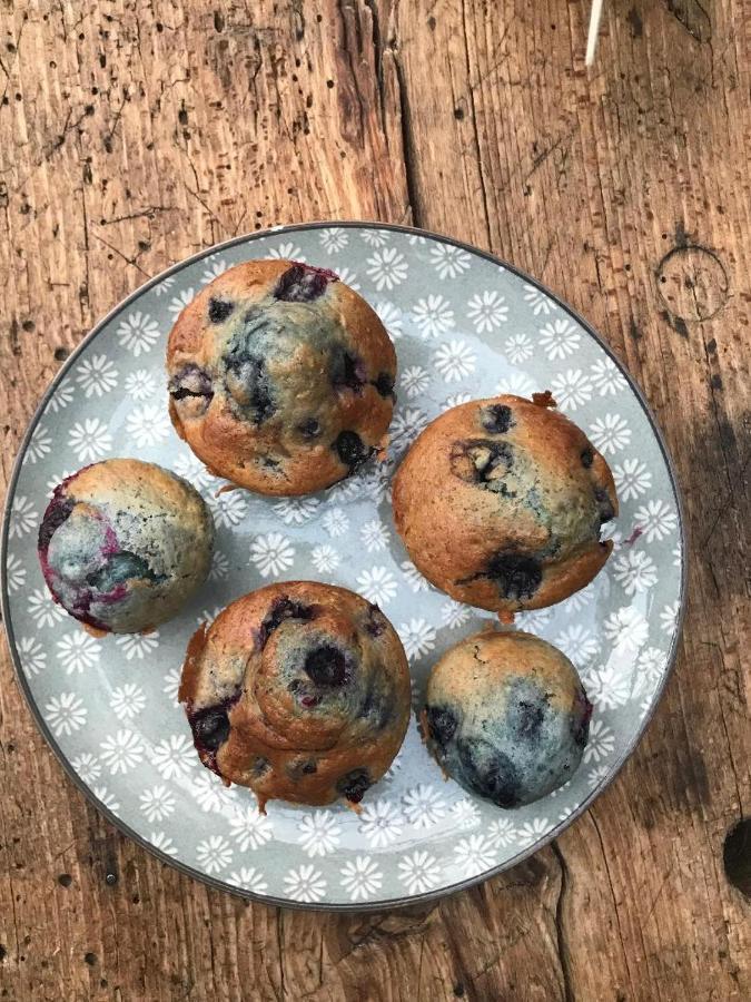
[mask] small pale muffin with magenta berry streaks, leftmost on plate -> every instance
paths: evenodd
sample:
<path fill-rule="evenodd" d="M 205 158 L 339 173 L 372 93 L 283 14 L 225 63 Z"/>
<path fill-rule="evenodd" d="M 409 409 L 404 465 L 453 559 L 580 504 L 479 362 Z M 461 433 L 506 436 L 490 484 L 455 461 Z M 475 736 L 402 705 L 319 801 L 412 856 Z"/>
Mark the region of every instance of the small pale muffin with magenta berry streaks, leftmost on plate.
<path fill-rule="evenodd" d="M 112 459 L 55 489 L 39 527 L 45 580 L 95 630 L 134 633 L 170 619 L 211 564 L 214 522 L 189 483 Z"/>

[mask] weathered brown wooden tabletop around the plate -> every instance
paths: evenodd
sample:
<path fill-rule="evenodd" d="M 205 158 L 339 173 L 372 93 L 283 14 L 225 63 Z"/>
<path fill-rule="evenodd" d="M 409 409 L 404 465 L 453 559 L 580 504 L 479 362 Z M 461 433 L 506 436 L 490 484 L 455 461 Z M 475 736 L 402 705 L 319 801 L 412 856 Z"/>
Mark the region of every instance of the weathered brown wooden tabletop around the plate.
<path fill-rule="evenodd" d="M 491 248 L 603 332 L 693 551 L 676 672 L 607 793 L 515 870 L 392 914 L 166 868 L 67 782 L 4 656 L 3 1002 L 751 998 L 722 867 L 751 811 L 748 2 L 611 0 L 592 71 L 584 0 L 0 9 L 6 482 L 47 382 L 146 278 L 254 228 L 376 218 Z"/>

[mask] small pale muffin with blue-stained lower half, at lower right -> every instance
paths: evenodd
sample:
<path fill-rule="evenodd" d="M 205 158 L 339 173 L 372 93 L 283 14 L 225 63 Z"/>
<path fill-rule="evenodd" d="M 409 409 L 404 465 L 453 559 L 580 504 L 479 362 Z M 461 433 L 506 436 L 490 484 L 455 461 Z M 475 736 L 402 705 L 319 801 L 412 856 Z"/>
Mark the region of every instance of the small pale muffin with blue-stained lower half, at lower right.
<path fill-rule="evenodd" d="M 531 633 L 487 630 L 433 668 L 422 729 L 438 765 L 465 789 L 518 807 L 571 779 L 591 716 L 560 650 Z"/>

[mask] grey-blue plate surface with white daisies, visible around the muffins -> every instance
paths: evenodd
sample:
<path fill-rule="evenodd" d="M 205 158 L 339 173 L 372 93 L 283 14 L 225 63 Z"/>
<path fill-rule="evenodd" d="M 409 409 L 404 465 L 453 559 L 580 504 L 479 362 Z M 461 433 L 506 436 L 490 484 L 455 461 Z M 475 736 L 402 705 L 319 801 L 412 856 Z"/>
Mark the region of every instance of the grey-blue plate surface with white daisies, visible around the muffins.
<path fill-rule="evenodd" d="M 167 416 L 164 352 L 186 303 L 226 267 L 290 257 L 334 268 L 377 310 L 399 361 L 387 463 L 325 493 L 217 495 Z M 359 817 L 268 806 L 204 769 L 176 704 L 186 644 L 228 601 L 308 578 L 360 592 L 397 628 L 419 704 L 431 665 L 485 625 L 433 589 L 394 531 L 395 464 L 439 411 L 552 390 L 612 465 L 615 549 L 580 593 L 518 625 L 561 647 L 595 704 L 584 762 L 556 794 L 502 811 L 444 782 L 411 725 Z M 36 536 L 51 488 L 86 463 L 138 456 L 190 480 L 218 530 L 210 580 L 146 637 L 95 639 L 51 600 Z M 664 444 L 629 376 L 582 320 L 497 259 L 370 224 L 290 226 L 176 265 L 109 314 L 48 390 L 16 466 L 3 525 L 3 611 L 20 684 L 77 785 L 121 831 L 215 886 L 285 905 L 372 908 L 436 897 L 512 866 L 571 824 L 633 750 L 673 661 L 684 593 L 680 501 Z"/>

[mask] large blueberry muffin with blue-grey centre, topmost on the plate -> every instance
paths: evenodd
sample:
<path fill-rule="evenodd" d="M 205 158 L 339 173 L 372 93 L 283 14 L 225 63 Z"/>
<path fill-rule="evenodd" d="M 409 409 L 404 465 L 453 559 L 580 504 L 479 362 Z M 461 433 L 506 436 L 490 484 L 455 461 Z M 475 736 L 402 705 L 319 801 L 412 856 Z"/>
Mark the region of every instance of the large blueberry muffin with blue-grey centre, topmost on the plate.
<path fill-rule="evenodd" d="M 230 268 L 186 306 L 167 348 L 177 433 L 215 473 L 306 494 L 385 442 L 396 355 L 365 299 L 291 261 Z"/>

